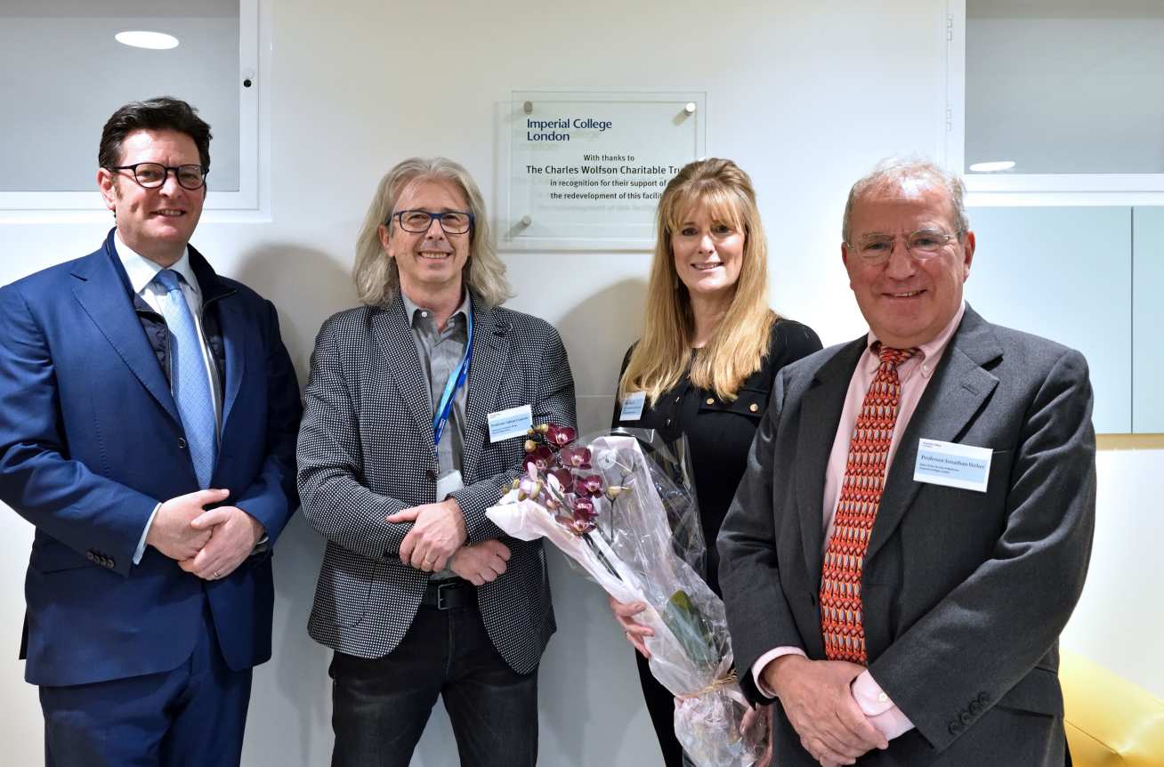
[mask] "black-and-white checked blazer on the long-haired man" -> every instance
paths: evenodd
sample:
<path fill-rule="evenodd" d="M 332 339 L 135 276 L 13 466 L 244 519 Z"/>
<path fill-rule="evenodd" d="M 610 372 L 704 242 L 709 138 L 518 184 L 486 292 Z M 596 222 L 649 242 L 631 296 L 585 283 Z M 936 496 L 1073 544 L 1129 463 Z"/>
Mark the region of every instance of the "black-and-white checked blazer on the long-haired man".
<path fill-rule="evenodd" d="M 554 632 L 541 541 L 506 537 L 485 517 L 518 475 L 519 438 L 489 443 L 487 416 L 528 404 L 533 422 L 575 425 L 574 378 L 546 321 L 474 304 L 464 407 L 464 488 L 453 496 L 470 544 L 501 539 L 505 574 L 477 589 L 489 637 L 517 672 L 533 670 Z M 428 574 L 398 552 L 411 523 L 385 517 L 436 499 L 432 405 L 404 301 L 333 315 L 319 331 L 304 392 L 298 481 L 304 516 L 327 538 L 307 631 L 350 655 L 379 658 L 404 638 Z"/>

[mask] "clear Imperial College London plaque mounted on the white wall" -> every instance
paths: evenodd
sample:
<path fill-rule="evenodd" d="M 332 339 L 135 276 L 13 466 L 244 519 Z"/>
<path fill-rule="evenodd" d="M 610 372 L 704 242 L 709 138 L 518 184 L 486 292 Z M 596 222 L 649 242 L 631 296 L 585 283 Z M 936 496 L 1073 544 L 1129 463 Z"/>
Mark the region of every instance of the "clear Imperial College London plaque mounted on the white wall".
<path fill-rule="evenodd" d="M 498 244 L 639 250 L 667 182 L 704 155 L 702 92 L 514 91 Z"/>

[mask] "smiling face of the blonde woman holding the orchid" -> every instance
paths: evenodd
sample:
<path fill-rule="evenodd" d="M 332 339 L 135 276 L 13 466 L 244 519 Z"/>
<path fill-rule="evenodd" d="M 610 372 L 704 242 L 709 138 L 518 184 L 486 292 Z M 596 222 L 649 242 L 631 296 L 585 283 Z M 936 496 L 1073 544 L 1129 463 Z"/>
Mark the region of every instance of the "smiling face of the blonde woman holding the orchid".
<path fill-rule="evenodd" d="M 670 233 L 675 274 L 691 296 L 730 297 L 739 280 L 746 240 L 738 225 L 719 220 L 708 205 L 695 203 Z"/>

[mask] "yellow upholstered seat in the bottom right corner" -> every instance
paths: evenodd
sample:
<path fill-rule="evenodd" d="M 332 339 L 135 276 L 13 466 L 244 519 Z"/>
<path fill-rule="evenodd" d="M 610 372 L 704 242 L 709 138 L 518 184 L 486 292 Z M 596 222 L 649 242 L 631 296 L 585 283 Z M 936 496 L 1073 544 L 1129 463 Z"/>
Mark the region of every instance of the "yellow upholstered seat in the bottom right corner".
<path fill-rule="evenodd" d="M 1059 681 L 1074 767 L 1164 767 L 1164 701 L 1067 651 Z"/>

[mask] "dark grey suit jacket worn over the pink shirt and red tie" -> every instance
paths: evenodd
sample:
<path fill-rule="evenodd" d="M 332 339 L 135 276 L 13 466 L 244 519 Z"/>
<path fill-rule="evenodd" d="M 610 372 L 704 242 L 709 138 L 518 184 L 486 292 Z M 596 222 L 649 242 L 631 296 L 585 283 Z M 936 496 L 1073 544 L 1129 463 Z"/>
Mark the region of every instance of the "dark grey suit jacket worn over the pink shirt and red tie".
<path fill-rule="evenodd" d="M 776 377 L 719 534 L 745 691 L 765 652 L 823 659 L 824 471 L 865 339 Z M 870 673 L 915 730 L 860 765 L 1062 765 L 1058 635 L 1095 516 L 1084 357 L 967 306 L 906 427 L 861 578 Z M 993 449 L 986 492 L 914 482 L 918 439 Z M 815 765 L 776 705 L 776 764 Z"/>

